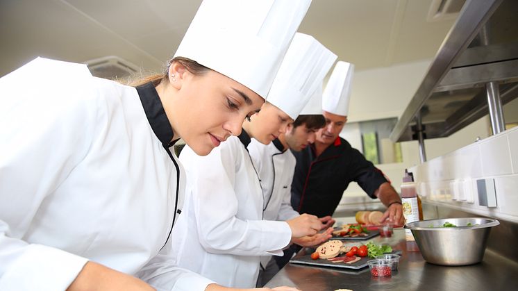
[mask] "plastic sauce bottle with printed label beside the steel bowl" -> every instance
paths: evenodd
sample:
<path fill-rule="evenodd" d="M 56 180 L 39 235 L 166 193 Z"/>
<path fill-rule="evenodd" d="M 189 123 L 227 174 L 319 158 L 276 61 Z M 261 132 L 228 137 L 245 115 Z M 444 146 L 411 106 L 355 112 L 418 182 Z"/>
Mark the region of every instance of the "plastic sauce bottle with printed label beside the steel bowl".
<path fill-rule="evenodd" d="M 403 176 L 403 183 L 401 183 L 401 203 L 403 203 L 403 216 L 405 223 L 419 221 L 419 201 L 417 198 L 417 191 L 415 190 L 414 177 L 405 169 L 405 176 Z M 412 231 L 405 229 L 406 250 L 419 251 Z"/>

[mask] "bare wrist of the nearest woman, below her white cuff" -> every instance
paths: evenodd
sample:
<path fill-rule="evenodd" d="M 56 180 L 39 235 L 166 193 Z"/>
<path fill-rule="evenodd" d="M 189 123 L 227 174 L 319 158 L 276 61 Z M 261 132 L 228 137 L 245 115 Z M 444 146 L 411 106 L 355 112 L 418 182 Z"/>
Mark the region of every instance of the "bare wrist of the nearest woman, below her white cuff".
<path fill-rule="evenodd" d="M 67 291 L 154 291 L 139 278 L 115 271 L 98 263 L 85 264 L 76 279 L 67 288 Z"/>

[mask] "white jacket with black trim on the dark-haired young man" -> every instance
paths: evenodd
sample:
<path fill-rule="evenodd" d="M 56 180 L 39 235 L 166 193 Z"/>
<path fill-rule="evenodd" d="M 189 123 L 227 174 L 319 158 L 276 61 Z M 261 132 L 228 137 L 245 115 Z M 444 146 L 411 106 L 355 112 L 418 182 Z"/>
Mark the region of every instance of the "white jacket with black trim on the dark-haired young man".
<path fill-rule="evenodd" d="M 296 160 L 279 140 L 262 144 L 252 139 L 248 150 L 258 170 L 265 199 L 264 219 L 285 221 L 299 216 L 292 208 L 292 180 Z"/>

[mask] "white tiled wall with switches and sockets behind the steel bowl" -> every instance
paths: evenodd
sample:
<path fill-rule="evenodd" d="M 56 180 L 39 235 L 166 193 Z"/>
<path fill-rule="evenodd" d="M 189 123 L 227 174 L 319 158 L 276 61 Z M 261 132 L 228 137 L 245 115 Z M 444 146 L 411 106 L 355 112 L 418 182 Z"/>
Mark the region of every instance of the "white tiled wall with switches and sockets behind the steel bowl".
<path fill-rule="evenodd" d="M 423 201 L 518 222 L 518 127 L 412 167 Z M 480 202 L 487 179 L 496 206 Z M 483 187 L 485 188 L 485 187 Z M 490 196 L 490 195 L 488 195 Z M 426 218 L 426 217 L 425 217 Z"/>

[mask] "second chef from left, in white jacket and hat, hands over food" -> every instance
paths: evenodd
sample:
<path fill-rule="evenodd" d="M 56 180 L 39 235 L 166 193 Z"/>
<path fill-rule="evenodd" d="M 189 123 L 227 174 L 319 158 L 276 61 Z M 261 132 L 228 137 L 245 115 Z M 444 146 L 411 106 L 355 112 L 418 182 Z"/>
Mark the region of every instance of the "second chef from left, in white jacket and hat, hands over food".
<path fill-rule="evenodd" d="M 292 238 L 315 235 L 323 224 L 301 215 L 287 222 L 262 220 L 260 177 L 251 163 L 251 138 L 268 144 L 299 115 L 326 74 L 322 62 L 332 54 L 309 35 L 296 33 L 260 113 L 244 122 L 208 156 L 185 147 L 180 160 L 187 172 L 185 207 L 174 229 L 174 263 L 221 285 L 256 285 L 260 256 L 282 255 Z M 317 235 L 320 242 L 329 232 Z"/>

